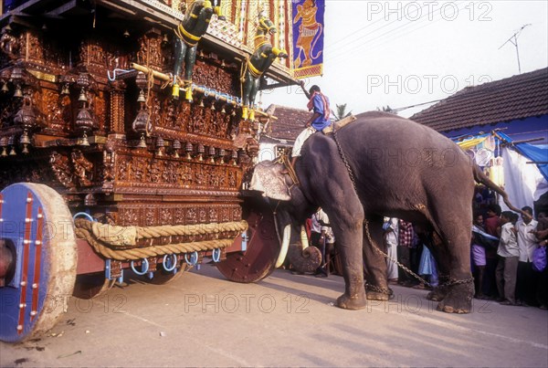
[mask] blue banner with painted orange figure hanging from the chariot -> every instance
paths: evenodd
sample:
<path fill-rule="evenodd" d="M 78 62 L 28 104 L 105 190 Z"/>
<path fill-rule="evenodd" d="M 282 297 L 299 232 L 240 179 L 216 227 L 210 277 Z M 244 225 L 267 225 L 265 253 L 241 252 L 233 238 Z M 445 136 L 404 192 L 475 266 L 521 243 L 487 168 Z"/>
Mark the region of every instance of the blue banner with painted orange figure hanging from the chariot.
<path fill-rule="evenodd" d="M 323 73 L 323 15 L 325 0 L 292 0 L 293 77 Z"/>

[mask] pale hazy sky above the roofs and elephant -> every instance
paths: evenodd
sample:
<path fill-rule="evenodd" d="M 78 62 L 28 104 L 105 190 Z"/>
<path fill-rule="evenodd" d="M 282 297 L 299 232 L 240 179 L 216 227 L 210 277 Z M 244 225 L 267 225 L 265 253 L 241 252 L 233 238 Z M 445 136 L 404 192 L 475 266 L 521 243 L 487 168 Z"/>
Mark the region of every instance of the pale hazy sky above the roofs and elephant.
<path fill-rule="evenodd" d="M 426 102 L 517 75 L 516 47 L 506 43 L 516 33 L 522 73 L 548 67 L 546 0 L 325 4 L 323 76 L 305 83 L 319 85 L 332 110 L 419 105 L 398 111 L 409 117 L 432 105 Z M 298 86 L 264 90 L 258 100 L 264 109 L 307 103 Z"/>

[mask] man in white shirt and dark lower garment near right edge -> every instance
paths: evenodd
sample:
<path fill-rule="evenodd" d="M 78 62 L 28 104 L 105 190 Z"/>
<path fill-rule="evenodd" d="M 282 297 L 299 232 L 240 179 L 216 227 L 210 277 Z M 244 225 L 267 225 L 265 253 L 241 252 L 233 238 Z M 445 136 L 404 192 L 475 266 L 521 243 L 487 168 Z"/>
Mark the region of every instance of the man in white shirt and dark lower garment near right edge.
<path fill-rule="evenodd" d="M 531 217 L 522 216 L 516 224 L 518 230 L 518 247 L 520 248 L 520 262 L 518 263 L 518 280 L 516 285 L 516 299 L 518 304 L 536 303 L 537 274 L 532 269 L 532 252 L 538 247 L 534 236 L 538 222 L 532 219 L 532 208 L 528 205 L 522 208 Z"/>

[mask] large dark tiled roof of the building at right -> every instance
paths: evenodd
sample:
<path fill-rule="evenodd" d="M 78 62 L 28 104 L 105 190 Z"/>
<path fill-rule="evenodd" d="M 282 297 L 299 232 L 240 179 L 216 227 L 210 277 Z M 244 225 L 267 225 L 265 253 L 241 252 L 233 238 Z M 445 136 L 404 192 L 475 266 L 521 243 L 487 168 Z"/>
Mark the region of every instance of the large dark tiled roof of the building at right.
<path fill-rule="evenodd" d="M 410 119 L 436 131 L 548 114 L 548 68 L 459 90 Z"/>

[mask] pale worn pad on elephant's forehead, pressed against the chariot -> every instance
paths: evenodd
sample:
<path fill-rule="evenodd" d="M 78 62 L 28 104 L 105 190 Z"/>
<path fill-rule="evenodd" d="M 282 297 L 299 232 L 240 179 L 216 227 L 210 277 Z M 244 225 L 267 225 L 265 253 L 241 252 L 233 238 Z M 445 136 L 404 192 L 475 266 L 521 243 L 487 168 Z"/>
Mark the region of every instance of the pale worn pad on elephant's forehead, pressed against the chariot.
<path fill-rule="evenodd" d="M 263 161 L 255 165 L 249 189 L 263 192 L 264 196 L 279 201 L 291 199 L 290 189 L 285 182 L 285 175 L 281 173 L 283 165 L 271 161 Z"/>

